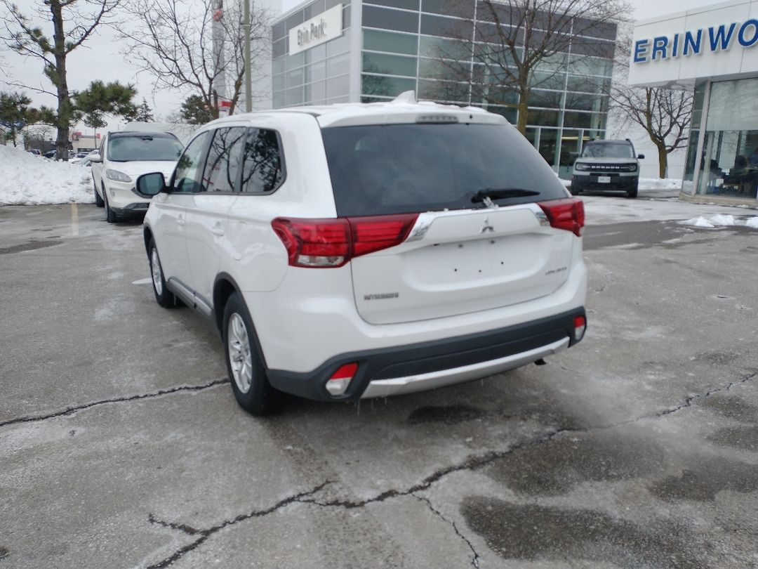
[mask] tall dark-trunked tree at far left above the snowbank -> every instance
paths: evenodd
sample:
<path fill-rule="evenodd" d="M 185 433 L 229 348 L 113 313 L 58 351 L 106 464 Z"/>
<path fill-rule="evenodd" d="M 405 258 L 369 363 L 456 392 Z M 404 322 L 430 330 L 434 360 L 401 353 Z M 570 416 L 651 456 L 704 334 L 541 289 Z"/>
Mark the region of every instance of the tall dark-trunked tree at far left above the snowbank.
<path fill-rule="evenodd" d="M 0 0 L 5 14 L 0 17 L 3 30 L 0 39 L 9 49 L 20 55 L 36 58 L 42 62 L 44 74 L 52 83 L 53 90 L 10 83 L 14 86 L 55 96 L 58 106 L 55 111 L 55 127 L 58 136 L 55 146 L 58 159 L 67 156 L 68 130 L 78 119 L 71 103 L 68 89 L 68 55 L 86 42 L 97 27 L 111 21 L 114 10 L 121 0 L 35 0 L 29 14 L 23 14 L 10 0 Z M 52 24 L 52 40 L 36 22 Z"/>

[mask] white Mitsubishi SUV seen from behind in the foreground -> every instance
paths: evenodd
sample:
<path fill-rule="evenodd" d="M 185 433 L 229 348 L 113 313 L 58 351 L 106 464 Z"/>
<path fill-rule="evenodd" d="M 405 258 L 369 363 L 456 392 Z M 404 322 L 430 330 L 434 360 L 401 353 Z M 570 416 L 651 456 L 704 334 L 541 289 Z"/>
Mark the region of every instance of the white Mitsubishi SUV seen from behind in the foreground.
<path fill-rule="evenodd" d="M 478 379 L 584 335 L 581 200 L 479 108 L 222 118 L 168 186 L 147 174 L 137 187 L 154 195 L 156 300 L 218 325 L 253 414 L 277 391 L 355 400 Z"/>

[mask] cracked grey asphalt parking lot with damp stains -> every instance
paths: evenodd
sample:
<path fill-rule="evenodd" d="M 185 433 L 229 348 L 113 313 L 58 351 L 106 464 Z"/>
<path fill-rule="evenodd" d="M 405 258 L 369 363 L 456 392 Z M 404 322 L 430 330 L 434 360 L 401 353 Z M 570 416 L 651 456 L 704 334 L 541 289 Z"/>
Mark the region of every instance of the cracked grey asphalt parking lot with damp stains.
<path fill-rule="evenodd" d="M 103 218 L 0 208 L 0 569 L 758 567 L 758 232 L 590 226 L 547 366 L 258 419 Z"/>

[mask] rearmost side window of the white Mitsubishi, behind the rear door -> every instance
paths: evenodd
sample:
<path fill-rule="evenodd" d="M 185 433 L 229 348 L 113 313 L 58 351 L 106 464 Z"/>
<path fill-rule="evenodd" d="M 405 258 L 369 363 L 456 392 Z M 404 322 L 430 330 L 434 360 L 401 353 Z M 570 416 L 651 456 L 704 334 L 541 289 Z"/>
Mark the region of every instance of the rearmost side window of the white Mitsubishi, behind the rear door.
<path fill-rule="evenodd" d="M 284 161 L 275 130 L 249 128 L 242 165 L 242 191 L 267 193 L 284 181 Z"/>

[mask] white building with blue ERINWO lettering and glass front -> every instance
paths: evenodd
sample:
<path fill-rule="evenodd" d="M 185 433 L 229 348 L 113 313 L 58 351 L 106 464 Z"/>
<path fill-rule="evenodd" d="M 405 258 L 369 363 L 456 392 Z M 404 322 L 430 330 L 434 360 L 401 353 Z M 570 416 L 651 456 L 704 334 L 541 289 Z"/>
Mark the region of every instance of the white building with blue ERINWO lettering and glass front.
<path fill-rule="evenodd" d="M 756 205 L 758 0 L 637 22 L 629 83 L 694 89 L 682 199 Z"/>

